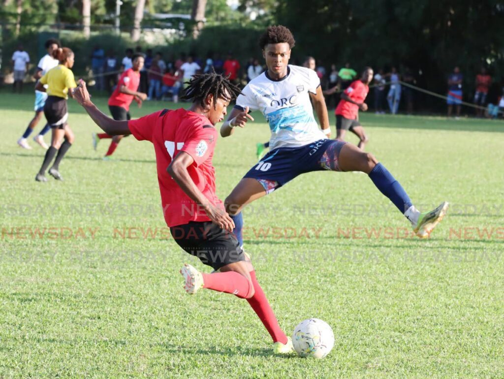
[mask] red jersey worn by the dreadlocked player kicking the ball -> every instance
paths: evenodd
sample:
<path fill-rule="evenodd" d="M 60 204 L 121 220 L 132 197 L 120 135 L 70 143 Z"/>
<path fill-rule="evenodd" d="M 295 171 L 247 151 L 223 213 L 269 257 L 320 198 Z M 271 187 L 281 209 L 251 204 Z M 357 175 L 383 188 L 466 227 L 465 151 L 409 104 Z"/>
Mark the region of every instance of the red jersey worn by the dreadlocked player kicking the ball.
<path fill-rule="evenodd" d="M 137 140 L 147 140 L 154 145 L 161 204 L 169 227 L 190 221 L 210 221 L 203 208 L 166 172 L 180 151 L 194 159 L 187 171 L 198 189 L 213 205 L 224 209 L 224 204 L 215 195 L 215 169 L 212 165 L 217 130 L 208 118 L 183 108 L 165 109 L 130 120 L 128 127 Z"/>

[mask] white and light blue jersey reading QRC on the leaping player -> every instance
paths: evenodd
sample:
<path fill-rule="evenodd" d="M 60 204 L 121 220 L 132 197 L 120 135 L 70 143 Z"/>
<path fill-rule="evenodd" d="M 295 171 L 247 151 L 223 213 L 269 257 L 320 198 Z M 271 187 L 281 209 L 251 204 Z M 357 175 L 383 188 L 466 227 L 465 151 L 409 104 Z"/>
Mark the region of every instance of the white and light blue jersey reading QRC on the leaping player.
<path fill-rule="evenodd" d="M 317 93 L 320 79 L 313 70 L 287 67 L 287 75 L 272 80 L 267 72 L 251 80 L 236 99 L 237 108 L 260 110 L 270 124 L 270 150 L 299 147 L 327 138 L 313 117 L 308 93 Z"/>

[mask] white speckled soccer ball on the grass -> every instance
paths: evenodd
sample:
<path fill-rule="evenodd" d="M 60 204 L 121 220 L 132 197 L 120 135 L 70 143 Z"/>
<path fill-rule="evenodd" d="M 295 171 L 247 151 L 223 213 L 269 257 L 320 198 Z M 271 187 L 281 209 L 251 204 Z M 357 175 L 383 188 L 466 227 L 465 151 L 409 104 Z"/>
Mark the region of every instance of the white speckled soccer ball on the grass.
<path fill-rule="evenodd" d="M 334 346 L 333 330 L 322 320 L 304 320 L 294 329 L 292 344 L 301 357 L 324 358 Z"/>

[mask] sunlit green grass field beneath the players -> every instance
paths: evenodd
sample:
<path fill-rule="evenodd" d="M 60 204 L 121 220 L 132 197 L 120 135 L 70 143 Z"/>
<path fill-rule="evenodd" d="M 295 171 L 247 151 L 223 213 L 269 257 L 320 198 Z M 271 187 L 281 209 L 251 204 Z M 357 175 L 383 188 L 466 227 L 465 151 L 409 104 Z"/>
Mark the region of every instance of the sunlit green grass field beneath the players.
<path fill-rule="evenodd" d="M 273 356 L 245 301 L 185 294 L 184 262 L 210 270 L 167 238 L 149 143 L 127 138 L 102 161 L 108 142 L 92 149 L 98 128 L 71 100 L 65 181 L 35 182 L 44 151 L 16 144 L 32 107 L 31 93 L 0 94 L 1 378 L 503 377 L 503 122 L 361 115 L 367 150 L 417 207 L 452 203 L 428 240 L 362 174 L 306 174 L 246 208 L 282 328 L 316 317 L 334 330 L 331 354 L 309 360 Z M 222 199 L 268 139 L 255 117 L 218 141 Z"/>

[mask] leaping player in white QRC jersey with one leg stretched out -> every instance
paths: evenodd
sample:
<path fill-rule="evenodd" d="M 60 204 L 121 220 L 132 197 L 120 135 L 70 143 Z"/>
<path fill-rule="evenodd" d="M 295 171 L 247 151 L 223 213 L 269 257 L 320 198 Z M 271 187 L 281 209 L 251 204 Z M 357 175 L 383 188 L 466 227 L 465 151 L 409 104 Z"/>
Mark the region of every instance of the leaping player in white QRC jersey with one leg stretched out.
<path fill-rule="evenodd" d="M 246 204 L 272 193 L 299 174 L 362 171 L 411 222 L 416 235 L 428 237 L 445 215 L 448 203 L 420 213 L 401 184 L 372 154 L 344 141 L 326 138 L 329 117 L 320 79 L 312 70 L 289 65 L 294 43 L 292 33 L 284 26 L 270 26 L 260 37 L 268 70 L 243 88 L 220 130 L 222 137 L 228 137 L 234 128 L 245 127 L 254 120 L 249 110 L 260 110 L 271 130 L 270 152 L 245 174 L 225 200 L 235 226 L 243 224 L 240 211 Z M 310 97 L 322 130 L 313 117 Z M 235 234 L 241 236 L 241 231 L 235 230 Z"/>

